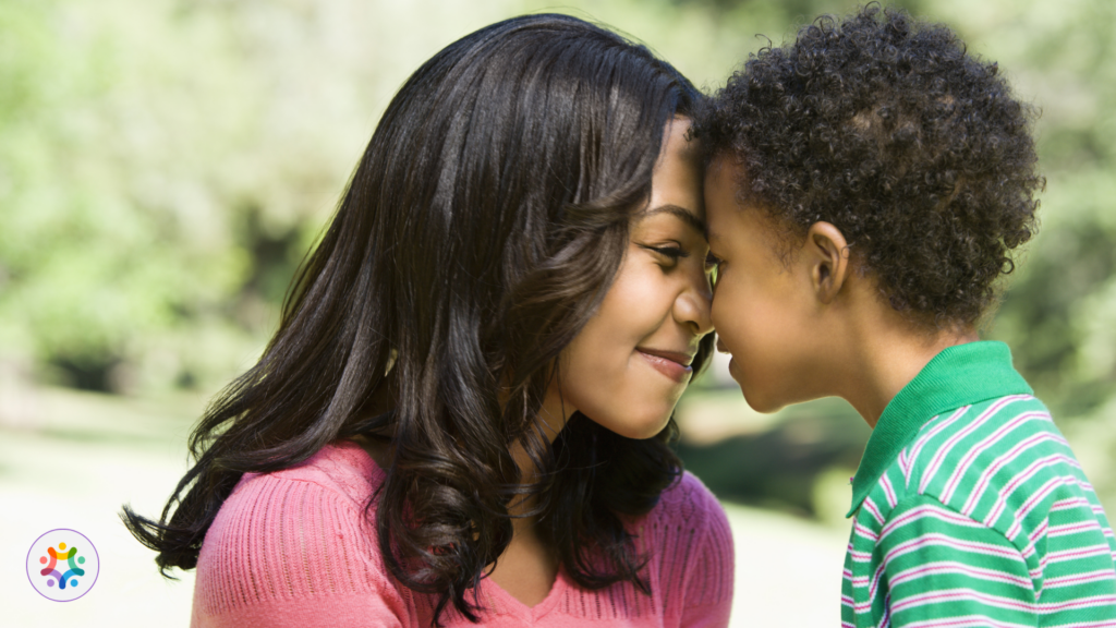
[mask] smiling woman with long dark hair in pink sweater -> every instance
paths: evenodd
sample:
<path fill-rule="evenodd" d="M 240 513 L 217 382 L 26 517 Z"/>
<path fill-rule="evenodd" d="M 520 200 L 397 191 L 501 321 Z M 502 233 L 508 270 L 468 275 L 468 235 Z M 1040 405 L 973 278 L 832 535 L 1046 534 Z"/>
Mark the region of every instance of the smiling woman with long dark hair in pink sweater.
<path fill-rule="evenodd" d="M 696 98 L 565 16 L 407 80 L 160 522 L 125 508 L 195 626 L 727 622 L 666 447 L 712 343 Z"/>

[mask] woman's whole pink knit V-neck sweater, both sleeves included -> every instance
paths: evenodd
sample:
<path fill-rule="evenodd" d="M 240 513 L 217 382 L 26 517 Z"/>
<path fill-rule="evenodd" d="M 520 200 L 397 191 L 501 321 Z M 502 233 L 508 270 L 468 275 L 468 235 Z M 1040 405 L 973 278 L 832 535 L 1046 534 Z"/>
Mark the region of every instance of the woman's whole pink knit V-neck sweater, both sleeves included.
<path fill-rule="evenodd" d="M 384 478 L 348 441 L 295 468 L 247 474 L 202 544 L 191 626 L 429 627 L 435 600 L 388 575 L 375 523 L 363 514 Z M 481 625 L 728 625 L 732 539 L 724 512 L 701 482 L 685 474 L 636 520 L 634 532 L 639 550 L 650 552 L 651 597 L 629 583 L 588 591 L 559 570 L 550 593 L 531 608 L 485 579 L 477 591 L 485 608 Z M 473 626 L 452 607 L 441 622 Z"/>

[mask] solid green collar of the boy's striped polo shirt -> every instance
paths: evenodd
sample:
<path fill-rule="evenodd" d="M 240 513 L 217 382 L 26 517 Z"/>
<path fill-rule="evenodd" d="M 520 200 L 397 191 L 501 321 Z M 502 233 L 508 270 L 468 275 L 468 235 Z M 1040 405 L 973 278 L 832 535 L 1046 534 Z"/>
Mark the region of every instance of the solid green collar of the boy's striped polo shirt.
<path fill-rule="evenodd" d="M 943 350 L 892 398 L 864 448 L 853 478 L 853 516 L 899 451 L 932 417 L 1007 394 L 1032 394 L 1011 365 L 1011 350 L 994 341 Z"/>

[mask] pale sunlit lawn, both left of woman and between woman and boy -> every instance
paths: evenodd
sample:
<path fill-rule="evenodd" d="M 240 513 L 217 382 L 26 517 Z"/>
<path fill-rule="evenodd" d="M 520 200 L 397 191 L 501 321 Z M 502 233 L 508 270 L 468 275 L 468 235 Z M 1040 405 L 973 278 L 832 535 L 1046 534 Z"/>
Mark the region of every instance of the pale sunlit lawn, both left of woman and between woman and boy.
<path fill-rule="evenodd" d="M 154 553 L 117 520 L 124 503 L 156 514 L 185 470 L 198 397 L 161 403 L 38 389 L 35 420 L 0 425 L 0 606 L 3 626 L 187 626 L 193 572 L 158 575 Z M 732 626 L 799 628 L 839 619 L 847 533 L 787 514 L 727 503 L 737 544 Z M 22 571 L 31 543 L 55 527 L 97 546 L 94 589 L 69 603 L 40 597 Z M 793 583 L 790 586 L 789 583 Z"/>

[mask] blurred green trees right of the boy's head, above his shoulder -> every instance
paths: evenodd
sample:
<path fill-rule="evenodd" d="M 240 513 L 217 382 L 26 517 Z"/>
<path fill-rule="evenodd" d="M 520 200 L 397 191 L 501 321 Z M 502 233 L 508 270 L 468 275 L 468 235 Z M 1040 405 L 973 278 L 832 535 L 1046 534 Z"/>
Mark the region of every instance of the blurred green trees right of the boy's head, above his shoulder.
<path fill-rule="evenodd" d="M 994 333 L 1066 415 L 1116 392 L 1116 6 L 1030 2 L 989 47 L 1013 53 L 1019 91 L 1042 108 L 1042 229 Z"/>

